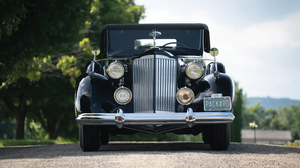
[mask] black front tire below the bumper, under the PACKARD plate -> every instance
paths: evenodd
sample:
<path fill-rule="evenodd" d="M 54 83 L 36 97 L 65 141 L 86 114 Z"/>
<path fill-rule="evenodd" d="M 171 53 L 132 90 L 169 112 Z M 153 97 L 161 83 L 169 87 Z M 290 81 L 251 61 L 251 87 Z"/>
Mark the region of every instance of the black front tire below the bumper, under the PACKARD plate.
<path fill-rule="evenodd" d="M 230 124 L 214 124 L 209 137 L 213 150 L 227 150 L 230 145 Z"/>

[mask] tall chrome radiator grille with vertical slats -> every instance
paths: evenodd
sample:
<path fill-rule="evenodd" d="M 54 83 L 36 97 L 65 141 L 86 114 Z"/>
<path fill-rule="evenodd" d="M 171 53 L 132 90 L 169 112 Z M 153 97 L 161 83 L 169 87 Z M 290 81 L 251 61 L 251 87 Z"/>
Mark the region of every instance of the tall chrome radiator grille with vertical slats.
<path fill-rule="evenodd" d="M 164 55 L 133 60 L 134 113 L 175 112 L 176 67 L 176 59 Z"/>

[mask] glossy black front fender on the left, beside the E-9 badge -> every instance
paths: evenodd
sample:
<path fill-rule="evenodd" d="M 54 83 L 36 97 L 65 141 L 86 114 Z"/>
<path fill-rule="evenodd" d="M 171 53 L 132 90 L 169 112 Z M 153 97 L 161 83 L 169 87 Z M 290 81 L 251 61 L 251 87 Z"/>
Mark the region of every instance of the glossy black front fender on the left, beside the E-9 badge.
<path fill-rule="evenodd" d="M 101 74 L 95 73 L 93 78 L 88 73 L 79 76 L 75 89 L 76 116 L 83 113 L 116 113 L 119 108 L 132 111 L 130 104 L 120 105 L 114 100 L 117 87 Z"/>

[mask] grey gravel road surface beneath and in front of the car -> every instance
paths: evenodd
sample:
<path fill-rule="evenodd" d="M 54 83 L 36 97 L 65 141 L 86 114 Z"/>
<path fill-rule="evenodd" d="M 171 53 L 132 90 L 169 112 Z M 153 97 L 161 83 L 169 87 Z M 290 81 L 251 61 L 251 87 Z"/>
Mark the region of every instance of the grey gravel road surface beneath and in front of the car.
<path fill-rule="evenodd" d="M 202 142 L 114 142 L 98 152 L 79 144 L 0 148 L 0 167 L 300 167 L 300 148 L 231 143 L 213 151 Z"/>

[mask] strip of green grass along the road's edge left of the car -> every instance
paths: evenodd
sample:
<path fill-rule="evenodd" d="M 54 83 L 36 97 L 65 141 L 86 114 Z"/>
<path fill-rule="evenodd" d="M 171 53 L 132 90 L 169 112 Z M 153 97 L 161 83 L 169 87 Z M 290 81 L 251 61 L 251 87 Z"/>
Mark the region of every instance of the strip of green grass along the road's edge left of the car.
<path fill-rule="evenodd" d="M 0 147 L 74 143 L 66 140 L 0 140 Z"/>

